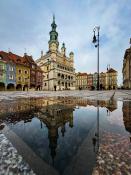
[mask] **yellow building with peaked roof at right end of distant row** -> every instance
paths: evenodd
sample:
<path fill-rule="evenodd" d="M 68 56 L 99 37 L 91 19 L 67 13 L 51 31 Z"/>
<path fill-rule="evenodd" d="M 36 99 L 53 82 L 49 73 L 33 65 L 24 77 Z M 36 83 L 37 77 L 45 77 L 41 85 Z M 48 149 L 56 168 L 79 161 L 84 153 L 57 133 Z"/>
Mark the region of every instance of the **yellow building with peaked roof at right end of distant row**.
<path fill-rule="evenodd" d="M 117 89 L 117 71 L 112 68 L 106 72 L 106 89 Z"/>

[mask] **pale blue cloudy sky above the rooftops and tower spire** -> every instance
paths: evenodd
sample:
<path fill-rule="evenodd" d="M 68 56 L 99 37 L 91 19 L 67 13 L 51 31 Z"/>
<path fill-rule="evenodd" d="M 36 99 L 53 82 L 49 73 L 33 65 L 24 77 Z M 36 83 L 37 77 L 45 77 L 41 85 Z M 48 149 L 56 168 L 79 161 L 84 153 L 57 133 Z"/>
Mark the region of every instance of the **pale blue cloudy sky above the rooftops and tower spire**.
<path fill-rule="evenodd" d="M 48 50 L 52 14 L 56 16 L 58 39 L 67 54 L 75 54 L 76 72 L 97 70 L 93 28 L 100 25 L 100 71 L 107 64 L 118 71 L 122 83 L 122 61 L 131 37 L 131 0 L 0 0 L 0 50 L 34 59 Z"/>

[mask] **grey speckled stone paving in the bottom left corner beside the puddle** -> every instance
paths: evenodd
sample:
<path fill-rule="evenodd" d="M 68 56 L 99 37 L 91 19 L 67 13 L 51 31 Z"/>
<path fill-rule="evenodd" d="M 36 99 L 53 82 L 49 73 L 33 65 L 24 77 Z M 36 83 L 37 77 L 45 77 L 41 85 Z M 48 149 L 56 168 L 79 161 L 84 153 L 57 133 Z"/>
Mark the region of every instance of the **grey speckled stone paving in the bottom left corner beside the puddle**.
<path fill-rule="evenodd" d="M 0 175 L 35 175 L 29 165 L 0 132 Z"/>

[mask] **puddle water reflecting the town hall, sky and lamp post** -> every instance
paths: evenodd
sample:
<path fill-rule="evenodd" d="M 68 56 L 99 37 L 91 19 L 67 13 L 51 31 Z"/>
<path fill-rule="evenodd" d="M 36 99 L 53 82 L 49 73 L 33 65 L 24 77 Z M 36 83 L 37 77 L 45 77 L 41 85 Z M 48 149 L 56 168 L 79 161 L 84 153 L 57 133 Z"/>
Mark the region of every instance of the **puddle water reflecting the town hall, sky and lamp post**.
<path fill-rule="evenodd" d="M 129 138 L 126 130 L 131 131 L 130 110 L 129 101 L 122 104 L 67 97 L 21 99 L 0 104 L 0 129 L 4 131 L 6 124 L 23 141 L 23 150 L 26 144 L 59 174 L 91 174 L 99 146 L 108 144 L 108 139 L 106 143 L 103 140 L 109 138 L 109 132 Z M 16 146 L 11 136 L 9 139 Z M 26 153 L 21 154 L 27 160 Z M 34 161 L 28 158 L 31 167 Z M 32 167 L 36 173 L 37 168 L 41 171 L 41 167 Z"/>

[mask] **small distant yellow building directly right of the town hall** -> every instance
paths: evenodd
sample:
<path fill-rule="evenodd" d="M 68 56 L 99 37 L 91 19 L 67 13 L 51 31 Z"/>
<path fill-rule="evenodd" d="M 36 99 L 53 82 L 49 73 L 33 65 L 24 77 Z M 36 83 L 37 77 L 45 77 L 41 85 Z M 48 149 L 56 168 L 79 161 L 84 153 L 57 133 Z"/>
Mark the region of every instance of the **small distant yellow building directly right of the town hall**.
<path fill-rule="evenodd" d="M 76 74 L 76 89 L 88 89 L 88 75 L 87 73 L 80 73 Z"/>

